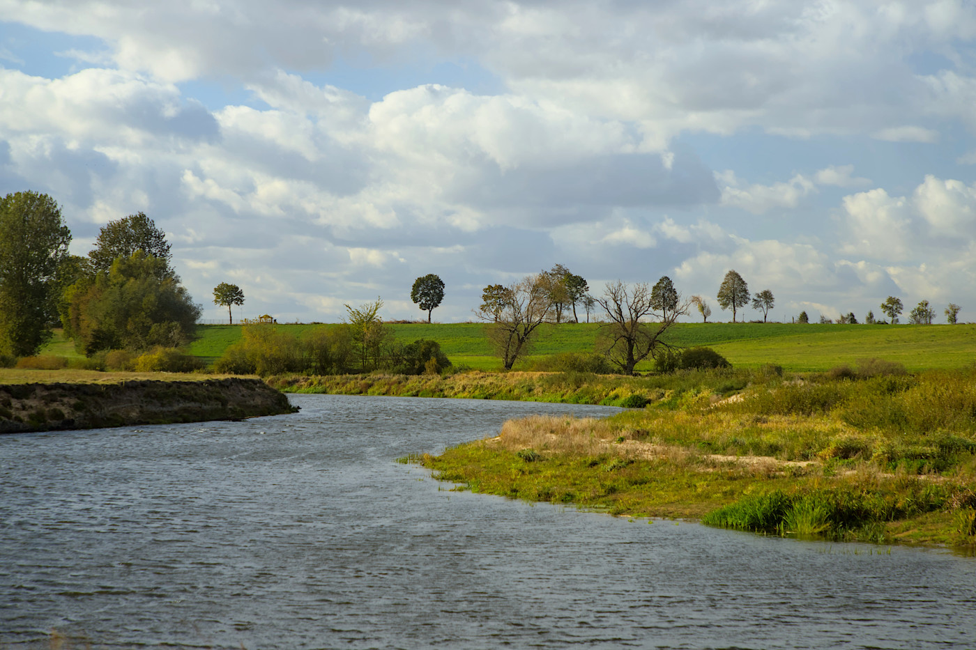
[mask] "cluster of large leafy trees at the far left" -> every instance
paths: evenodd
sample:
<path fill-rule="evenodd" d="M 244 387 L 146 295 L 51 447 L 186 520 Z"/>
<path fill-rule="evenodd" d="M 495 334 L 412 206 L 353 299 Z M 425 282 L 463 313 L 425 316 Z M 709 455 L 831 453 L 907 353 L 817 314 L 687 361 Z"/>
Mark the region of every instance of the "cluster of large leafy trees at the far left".
<path fill-rule="evenodd" d="M 189 343 L 200 307 L 151 219 L 141 212 L 105 224 L 87 256 L 69 255 L 70 242 L 47 194 L 0 201 L 0 352 L 36 354 L 57 324 L 86 355 Z"/>

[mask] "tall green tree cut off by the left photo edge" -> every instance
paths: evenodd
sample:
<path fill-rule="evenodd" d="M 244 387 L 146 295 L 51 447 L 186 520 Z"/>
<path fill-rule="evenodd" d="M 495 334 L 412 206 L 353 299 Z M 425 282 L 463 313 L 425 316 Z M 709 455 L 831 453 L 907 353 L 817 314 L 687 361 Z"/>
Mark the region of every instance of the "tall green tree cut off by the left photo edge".
<path fill-rule="evenodd" d="M 47 194 L 0 200 L 0 351 L 29 356 L 51 339 L 58 271 L 70 242 L 61 209 Z"/>

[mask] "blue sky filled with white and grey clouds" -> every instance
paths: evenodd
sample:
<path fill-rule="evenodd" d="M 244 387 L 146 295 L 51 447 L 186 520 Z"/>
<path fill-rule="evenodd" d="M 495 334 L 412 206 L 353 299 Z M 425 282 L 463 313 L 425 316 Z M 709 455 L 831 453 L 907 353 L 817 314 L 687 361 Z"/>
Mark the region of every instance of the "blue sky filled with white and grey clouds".
<path fill-rule="evenodd" d="M 145 212 L 204 317 L 471 318 L 564 264 L 976 320 L 976 4 L 0 0 L 0 193 Z M 756 317 L 757 312 L 748 312 Z"/>

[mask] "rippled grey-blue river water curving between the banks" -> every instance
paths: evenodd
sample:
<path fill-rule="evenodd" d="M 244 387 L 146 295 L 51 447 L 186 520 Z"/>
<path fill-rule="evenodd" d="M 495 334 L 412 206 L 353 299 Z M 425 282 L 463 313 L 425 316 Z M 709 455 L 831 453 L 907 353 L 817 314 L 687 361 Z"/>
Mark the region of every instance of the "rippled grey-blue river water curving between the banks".
<path fill-rule="evenodd" d="M 533 506 L 394 462 L 614 409 L 291 399 L 0 437 L 0 648 L 976 647 L 972 557 Z"/>

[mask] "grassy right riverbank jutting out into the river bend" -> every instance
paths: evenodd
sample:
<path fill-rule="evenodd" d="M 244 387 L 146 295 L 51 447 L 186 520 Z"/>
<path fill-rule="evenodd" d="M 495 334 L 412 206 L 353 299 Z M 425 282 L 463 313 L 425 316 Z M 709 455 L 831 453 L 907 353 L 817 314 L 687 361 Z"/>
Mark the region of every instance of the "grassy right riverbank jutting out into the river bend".
<path fill-rule="evenodd" d="M 976 545 L 976 372 L 721 376 L 607 420 L 529 418 L 422 464 L 462 489 L 764 534 Z"/>

